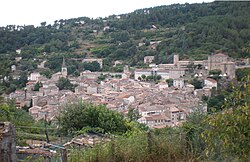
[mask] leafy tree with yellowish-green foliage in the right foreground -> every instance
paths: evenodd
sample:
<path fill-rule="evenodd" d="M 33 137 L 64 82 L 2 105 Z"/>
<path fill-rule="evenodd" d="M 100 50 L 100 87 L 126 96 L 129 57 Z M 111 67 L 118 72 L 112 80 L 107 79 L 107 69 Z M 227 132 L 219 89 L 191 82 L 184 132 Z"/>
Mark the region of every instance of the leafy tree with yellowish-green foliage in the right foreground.
<path fill-rule="evenodd" d="M 202 133 L 206 142 L 206 155 L 231 161 L 249 160 L 249 112 L 250 76 L 239 83 L 226 98 L 222 112 L 216 112 L 205 119 L 208 125 Z"/>

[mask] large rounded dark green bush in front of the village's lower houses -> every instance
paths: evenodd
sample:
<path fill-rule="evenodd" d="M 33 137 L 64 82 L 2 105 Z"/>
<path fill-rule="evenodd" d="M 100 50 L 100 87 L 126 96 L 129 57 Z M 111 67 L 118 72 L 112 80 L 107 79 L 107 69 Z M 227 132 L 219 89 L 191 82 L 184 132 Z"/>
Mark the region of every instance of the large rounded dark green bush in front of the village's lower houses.
<path fill-rule="evenodd" d="M 68 104 L 60 115 L 61 130 L 65 134 L 76 133 L 87 128 L 102 133 L 125 133 L 129 130 L 125 118 L 118 112 L 102 105 L 79 101 Z"/>

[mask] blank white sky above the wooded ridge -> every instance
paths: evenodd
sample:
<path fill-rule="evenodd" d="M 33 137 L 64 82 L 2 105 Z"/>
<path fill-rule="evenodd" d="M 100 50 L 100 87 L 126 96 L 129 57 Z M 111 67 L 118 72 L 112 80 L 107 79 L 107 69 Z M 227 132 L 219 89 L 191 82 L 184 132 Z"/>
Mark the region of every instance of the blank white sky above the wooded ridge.
<path fill-rule="evenodd" d="M 106 17 L 136 9 L 213 0 L 1 0 L 0 26 L 40 25 L 77 17 Z"/>

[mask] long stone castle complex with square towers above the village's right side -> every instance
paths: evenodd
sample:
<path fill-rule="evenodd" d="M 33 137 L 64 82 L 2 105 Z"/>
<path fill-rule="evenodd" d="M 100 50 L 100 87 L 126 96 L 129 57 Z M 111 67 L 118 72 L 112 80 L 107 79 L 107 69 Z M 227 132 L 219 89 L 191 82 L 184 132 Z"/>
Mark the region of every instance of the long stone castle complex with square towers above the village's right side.
<path fill-rule="evenodd" d="M 208 60 L 189 61 L 180 60 L 179 55 L 173 56 L 173 64 L 159 64 L 155 69 L 137 69 L 135 70 L 135 79 L 141 75 L 161 75 L 163 79 L 179 78 L 185 75 L 185 70 L 188 65 L 201 66 L 208 74 L 211 70 L 220 70 L 222 76 L 227 76 L 229 79 L 235 78 L 235 62 L 230 61 L 228 55 L 216 53 L 208 56 Z"/>

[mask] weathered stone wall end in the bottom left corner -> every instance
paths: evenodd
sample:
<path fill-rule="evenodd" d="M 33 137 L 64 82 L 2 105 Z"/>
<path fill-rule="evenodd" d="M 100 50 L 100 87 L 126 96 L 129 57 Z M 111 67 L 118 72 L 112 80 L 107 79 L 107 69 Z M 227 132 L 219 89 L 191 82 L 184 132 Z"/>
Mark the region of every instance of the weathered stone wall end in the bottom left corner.
<path fill-rule="evenodd" d="M 0 162 L 16 161 L 16 130 L 9 122 L 0 122 Z"/>

